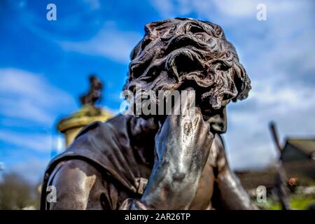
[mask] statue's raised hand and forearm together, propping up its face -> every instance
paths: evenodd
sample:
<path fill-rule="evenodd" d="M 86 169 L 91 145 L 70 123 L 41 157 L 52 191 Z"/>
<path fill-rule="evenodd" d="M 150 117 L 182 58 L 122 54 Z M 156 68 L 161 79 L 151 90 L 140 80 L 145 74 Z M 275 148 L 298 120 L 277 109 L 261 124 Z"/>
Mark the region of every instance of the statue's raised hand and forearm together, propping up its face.
<path fill-rule="evenodd" d="M 193 97 L 176 102 L 181 115 L 167 116 L 155 137 L 155 165 L 141 198 L 154 209 L 187 209 L 195 197 L 214 135 L 200 108 L 190 109 Z"/>

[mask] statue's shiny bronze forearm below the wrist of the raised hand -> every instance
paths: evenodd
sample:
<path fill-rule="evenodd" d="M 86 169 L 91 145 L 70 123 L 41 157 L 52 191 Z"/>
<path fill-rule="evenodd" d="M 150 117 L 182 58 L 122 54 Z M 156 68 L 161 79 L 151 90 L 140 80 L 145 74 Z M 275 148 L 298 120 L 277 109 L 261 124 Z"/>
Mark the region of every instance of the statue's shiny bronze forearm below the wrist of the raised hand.
<path fill-rule="evenodd" d="M 188 209 L 197 191 L 197 174 L 176 172 L 172 165 L 153 169 L 140 200 L 127 200 L 122 209 Z"/>

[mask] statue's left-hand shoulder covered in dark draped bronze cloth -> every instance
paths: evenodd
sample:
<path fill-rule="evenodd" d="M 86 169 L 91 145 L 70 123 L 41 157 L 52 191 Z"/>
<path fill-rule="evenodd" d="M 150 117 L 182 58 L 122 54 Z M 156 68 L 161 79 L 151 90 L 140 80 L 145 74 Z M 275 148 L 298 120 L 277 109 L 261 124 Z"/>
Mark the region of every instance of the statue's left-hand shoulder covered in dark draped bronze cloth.
<path fill-rule="evenodd" d="M 80 165 L 87 164 L 99 169 L 126 190 L 137 191 L 134 176 L 141 175 L 130 146 L 129 120 L 128 116 L 118 115 L 105 123 L 96 121 L 84 127 L 66 151 L 50 161 L 43 183 L 48 184 L 48 179 L 61 162 L 80 160 L 83 161 Z"/>

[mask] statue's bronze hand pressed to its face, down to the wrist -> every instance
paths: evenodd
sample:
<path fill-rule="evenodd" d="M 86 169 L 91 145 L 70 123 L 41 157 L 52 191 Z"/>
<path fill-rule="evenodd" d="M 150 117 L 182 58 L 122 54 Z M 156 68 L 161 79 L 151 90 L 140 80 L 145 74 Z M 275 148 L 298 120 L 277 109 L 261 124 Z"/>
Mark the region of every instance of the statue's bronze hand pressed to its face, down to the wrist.
<path fill-rule="evenodd" d="M 186 100 L 181 115 L 167 116 L 155 137 L 158 165 L 172 167 L 174 175 L 178 177 L 185 175 L 187 178 L 202 171 L 214 140 L 200 108 L 190 109 L 192 100 Z M 176 106 L 180 106 L 180 103 L 176 102 Z"/>

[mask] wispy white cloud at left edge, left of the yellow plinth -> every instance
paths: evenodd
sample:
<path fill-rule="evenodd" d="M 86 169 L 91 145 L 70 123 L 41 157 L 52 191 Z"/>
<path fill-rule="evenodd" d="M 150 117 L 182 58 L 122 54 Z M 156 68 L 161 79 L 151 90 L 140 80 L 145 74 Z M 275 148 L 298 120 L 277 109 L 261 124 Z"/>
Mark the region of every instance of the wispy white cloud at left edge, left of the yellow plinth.
<path fill-rule="evenodd" d="M 50 127 L 62 106 L 75 108 L 74 99 L 40 74 L 0 69 L 0 115 Z"/>

